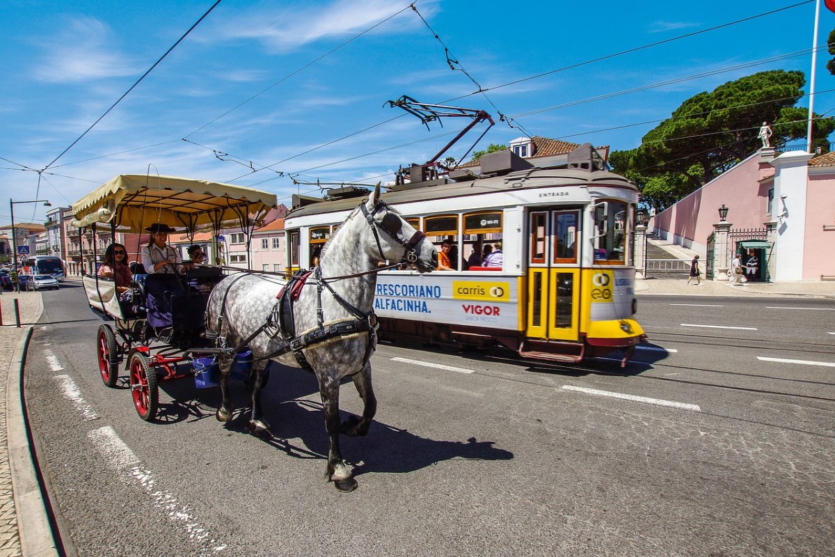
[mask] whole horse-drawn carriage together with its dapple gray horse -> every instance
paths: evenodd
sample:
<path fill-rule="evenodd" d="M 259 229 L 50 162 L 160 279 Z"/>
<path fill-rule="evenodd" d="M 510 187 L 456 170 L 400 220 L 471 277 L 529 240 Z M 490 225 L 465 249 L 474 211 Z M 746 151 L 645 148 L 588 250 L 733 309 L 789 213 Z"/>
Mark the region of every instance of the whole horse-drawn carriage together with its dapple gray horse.
<path fill-rule="evenodd" d="M 141 232 L 166 222 L 195 230 L 211 225 L 215 237 L 225 220 L 237 218 L 241 228 L 252 225 L 271 206 L 274 195 L 238 186 L 177 178 L 119 176 L 73 205 L 74 224 L 84 227 L 110 223 L 111 231 Z M 249 229 L 251 232 L 251 228 Z M 127 362 L 129 382 L 139 416 L 156 413 L 157 385 L 183 377 L 182 364 L 216 357 L 221 422 L 232 418 L 230 375 L 243 351 L 251 369 L 251 433 L 271 435 L 263 418 L 260 390 L 270 361 L 307 367 L 316 374 L 329 438 L 326 478 L 337 489 L 357 487 L 342 459 L 339 435 L 365 435 L 377 410 L 371 382 L 372 352 L 377 344 L 373 311 L 377 273 L 405 263 L 420 273 L 433 271 L 438 253 L 423 232 L 415 230 L 397 211 L 380 200 L 380 188 L 348 215 L 321 250 L 318 266 L 304 278 L 277 281 L 256 273 L 237 273 L 212 284 L 208 298 L 186 292 L 172 304 L 171 337 L 149 327 L 143 307 L 126 310 L 115 285 L 85 276 L 91 306 L 114 318 L 116 331 L 99 327 L 97 352 L 104 382 L 112 385 L 119 364 Z M 147 269 L 145 271 L 148 271 Z M 283 284 L 286 283 L 286 284 Z M 147 284 L 147 283 L 146 283 Z M 143 293 L 137 288 L 142 300 Z M 174 301 L 172 299 L 172 301 Z M 177 309 L 180 306 L 180 310 Z M 180 321 L 181 320 L 181 321 Z M 205 328 L 200 326 L 205 323 Z M 116 334 L 122 342 L 117 342 Z M 175 339 L 175 340 L 172 340 Z M 246 358 L 245 358 L 246 359 Z M 362 417 L 341 423 L 339 387 L 351 377 L 364 404 Z"/>

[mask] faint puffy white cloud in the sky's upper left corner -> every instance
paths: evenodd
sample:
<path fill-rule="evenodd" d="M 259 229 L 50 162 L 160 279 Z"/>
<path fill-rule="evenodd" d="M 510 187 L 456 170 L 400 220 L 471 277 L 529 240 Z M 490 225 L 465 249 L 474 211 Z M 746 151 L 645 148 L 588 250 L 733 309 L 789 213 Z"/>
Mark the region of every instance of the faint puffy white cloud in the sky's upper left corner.
<path fill-rule="evenodd" d="M 69 19 L 62 32 L 43 42 L 43 63 L 34 68 L 34 77 L 60 84 L 138 73 L 134 64 L 118 53 L 114 40 L 111 29 L 98 19 Z"/>

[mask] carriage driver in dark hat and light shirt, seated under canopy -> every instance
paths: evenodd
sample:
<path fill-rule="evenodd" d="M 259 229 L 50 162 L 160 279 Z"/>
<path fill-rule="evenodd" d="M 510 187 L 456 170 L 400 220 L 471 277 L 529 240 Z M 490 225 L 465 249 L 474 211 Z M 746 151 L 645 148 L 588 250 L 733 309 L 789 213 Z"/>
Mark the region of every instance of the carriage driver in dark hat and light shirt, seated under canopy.
<path fill-rule="evenodd" d="M 171 296 L 184 293 L 178 278 L 185 271 L 183 258 L 168 245 L 169 233 L 176 230 L 164 222 L 155 222 L 145 230 L 150 232 L 148 244 L 142 246 L 142 265 L 148 273 L 145 279 L 148 324 L 156 329 L 171 327 Z"/>

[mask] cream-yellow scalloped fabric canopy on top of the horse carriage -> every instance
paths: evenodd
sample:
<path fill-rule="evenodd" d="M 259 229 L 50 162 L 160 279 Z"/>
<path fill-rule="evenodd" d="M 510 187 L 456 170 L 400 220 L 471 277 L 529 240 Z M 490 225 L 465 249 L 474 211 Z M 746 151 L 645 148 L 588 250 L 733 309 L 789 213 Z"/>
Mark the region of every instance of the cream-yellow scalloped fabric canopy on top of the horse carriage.
<path fill-rule="evenodd" d="M 73 204 L 73 225 L 109 222 L 142 232 L 155 222 L 194 228 L 278 205 L 276 195 L 242 185 L 175 176 L 119 175 Z"/>

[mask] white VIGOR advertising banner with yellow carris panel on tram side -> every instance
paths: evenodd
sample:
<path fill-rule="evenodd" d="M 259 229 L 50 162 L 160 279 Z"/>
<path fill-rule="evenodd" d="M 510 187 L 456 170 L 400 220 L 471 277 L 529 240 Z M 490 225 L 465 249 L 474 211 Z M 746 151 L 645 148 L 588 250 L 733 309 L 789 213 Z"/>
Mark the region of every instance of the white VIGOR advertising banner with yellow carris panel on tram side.
<path fill-rule="evenodd" d="M 380 273 L 374 311 L 381 317 L 518 330 L 518 281 L 515 276 Z"/>

